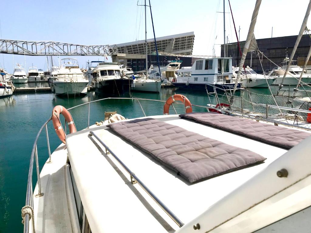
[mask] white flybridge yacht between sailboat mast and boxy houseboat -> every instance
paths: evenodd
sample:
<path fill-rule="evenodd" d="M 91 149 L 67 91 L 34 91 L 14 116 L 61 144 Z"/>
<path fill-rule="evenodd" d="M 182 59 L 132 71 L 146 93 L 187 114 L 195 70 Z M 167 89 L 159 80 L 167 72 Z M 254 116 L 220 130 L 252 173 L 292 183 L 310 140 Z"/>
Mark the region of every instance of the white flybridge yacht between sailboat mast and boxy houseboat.
<path fill-rule="evenodd" d="M 173 80 L 177 78 L 177 70 L 179 70 L 181 63 L 182 61 L 171 61 L 169 64 L 167 64 L 167 66 L 160 67 L 162 80 L 160 79 L 159 68 L 157 66 L 152 66 L 153 68 L 148 70 L 148 78 L 162 81 L 164 84 L 173 82 Z"/>

